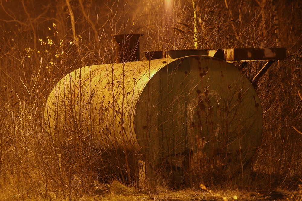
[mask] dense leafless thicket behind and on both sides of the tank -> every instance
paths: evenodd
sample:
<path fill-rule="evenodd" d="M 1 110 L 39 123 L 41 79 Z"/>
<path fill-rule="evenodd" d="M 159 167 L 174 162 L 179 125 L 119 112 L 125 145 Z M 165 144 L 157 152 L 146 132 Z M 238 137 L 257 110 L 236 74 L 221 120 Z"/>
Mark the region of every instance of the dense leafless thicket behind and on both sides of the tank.
<path fill-rule="evenodd" d="M 275 62 L 258 85 L 264 133 L 252 170 L 261 187 L 298 181 L 301 15 L 302 2 L 295 0 L 1 0 L 0 194 L 93 192 L 101 153 L 89 144 L 71 142 L 67 153 L 54 146 L 43 130 L 43 105 L 70 71 L 114 61 L 114 33 L 143 33 L 141 51 L 287 48 L 286 60 Z M 243 72 L 252 77 L 262 65 L 248 64 Z"/>

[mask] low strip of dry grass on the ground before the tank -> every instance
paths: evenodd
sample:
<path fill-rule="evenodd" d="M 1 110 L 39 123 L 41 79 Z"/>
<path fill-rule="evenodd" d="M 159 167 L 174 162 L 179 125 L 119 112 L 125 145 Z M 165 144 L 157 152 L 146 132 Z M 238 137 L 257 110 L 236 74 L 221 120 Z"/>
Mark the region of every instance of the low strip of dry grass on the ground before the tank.
<path fill-rule="evenodd" d="M 142 193 L 133 187 L 126 187 L 118 181 L 113 181 L 111 184 L 98 184 L 93 195 L 74 196 L 75 200 L 157 200 L 157 201 L 193 201 L 193 200 L 250 200 L 250 201 L 265 201 L 265 200 L 294 200 L 300 201 L 300 191 L 284 191 L 284 190 L 201 190 L 186 188 L 184 190 L 171 191 L 167 189 L 159 189 L 158 193 L 151 195 Z M 300 192 L 300 194 L 299 194 Z M 53 194 L 52 200 L 69 200 L 68 198 L 55 197 Z"/>

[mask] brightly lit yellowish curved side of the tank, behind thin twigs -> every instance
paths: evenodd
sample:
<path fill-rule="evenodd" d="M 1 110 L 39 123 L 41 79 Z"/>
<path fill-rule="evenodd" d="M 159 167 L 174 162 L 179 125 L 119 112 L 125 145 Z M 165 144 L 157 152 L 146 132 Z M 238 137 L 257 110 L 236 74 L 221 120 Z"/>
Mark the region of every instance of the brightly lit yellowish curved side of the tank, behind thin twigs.
<path fill-rule="evenodd" d="M 102 148 L 139 150 L 134 108 L 150 77 L 165 65 L 164 60 L 92 65 L 67 74 L 47 99 L 47 130 L 59 143 L 69 139 L 64 130 L 73 130 Z"/>

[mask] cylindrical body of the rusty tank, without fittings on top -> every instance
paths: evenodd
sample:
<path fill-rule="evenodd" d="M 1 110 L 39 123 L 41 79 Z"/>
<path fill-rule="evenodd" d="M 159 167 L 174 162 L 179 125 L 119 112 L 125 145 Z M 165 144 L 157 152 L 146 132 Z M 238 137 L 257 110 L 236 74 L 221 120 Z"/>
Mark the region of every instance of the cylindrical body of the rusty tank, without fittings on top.
<path fill-rule="evenodd" d="M 72 128 L 101 148 L 139 152 L 155 165 L 189 159 L 196 171 L 249 161 L 263 125 L 250 81 L 201 55 L 77 69 L 53 88 L 44 116 L 57 142 Z"/>

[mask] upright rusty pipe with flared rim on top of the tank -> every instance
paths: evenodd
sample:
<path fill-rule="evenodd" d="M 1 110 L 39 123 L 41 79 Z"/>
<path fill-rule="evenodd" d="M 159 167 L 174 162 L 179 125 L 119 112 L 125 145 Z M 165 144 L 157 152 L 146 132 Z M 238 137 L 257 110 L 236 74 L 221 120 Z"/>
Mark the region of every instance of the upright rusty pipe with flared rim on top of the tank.
<path fill-rule="evenodd" d="M 112 34 L 115 38 L 116 63 L 140 60 L 140 36 L 143 34 Z"/>

